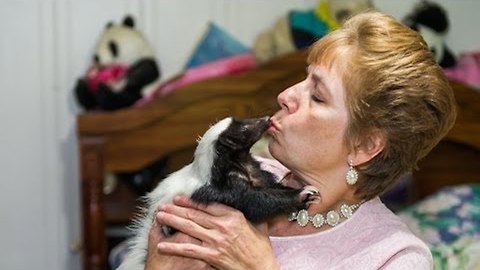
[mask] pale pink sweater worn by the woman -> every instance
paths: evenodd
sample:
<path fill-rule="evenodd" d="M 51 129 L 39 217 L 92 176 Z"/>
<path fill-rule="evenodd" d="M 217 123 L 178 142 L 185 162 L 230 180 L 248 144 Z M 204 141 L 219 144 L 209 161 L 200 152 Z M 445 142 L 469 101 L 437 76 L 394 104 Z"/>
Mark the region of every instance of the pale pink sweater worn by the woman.
<path fill-rule="evenodd" d="M 286 172 L 274 160 L 259 160 L 280 178 Z M 334 228 L 270 240 L 282 270 L 433 269 L 427 245 L 379 198 L 365 202 Z"/>

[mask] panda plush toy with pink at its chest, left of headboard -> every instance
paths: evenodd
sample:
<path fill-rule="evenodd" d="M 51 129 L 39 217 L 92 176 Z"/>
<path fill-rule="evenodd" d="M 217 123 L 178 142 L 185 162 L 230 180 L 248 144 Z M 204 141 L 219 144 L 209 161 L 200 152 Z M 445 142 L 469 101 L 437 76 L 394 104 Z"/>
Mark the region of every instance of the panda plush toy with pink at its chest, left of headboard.
<path fill-rule="evenodd" d="M 107 24 L 92 65 L 75 85 L 75 95 L 85 110 L 118 110 L 148 94 L 159 79 L 152 47 L 126 16 L 122 24 Z"/>

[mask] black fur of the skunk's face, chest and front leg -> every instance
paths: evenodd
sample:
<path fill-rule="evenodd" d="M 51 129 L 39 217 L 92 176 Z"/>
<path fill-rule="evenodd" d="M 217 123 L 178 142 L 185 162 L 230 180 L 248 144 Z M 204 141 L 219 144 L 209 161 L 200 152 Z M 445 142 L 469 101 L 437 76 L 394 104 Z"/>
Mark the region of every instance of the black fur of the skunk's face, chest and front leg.
<path fill-rule="evenodd" d="M 198 203 L 229 205 L 254 223 L 304 208 L 299 198 L 301 190 L 278 183 L 276 177 L 262 170 L 250 155 L 250 148 L 268 126 L 268 118 L 232 119 L 213 146 L 217 155 L 210 182 L 196 190 L 191 199 Z"/>

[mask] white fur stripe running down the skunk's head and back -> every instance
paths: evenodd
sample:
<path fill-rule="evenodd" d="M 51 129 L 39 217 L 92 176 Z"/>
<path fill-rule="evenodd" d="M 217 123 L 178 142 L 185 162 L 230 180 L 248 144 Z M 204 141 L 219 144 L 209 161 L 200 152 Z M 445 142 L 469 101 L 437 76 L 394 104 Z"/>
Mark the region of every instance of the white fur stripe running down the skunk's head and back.
<path fill-rule="evenodd" d="M 131 249 L 118 270 L 144 270 L 147 255 L 148 233 L 152 226 L 156 209 L 171 202 L 178 194 L 190 196 L 201 186 L 208 184 L 211 168 L 215 160 L 215 141 L 228 128 L 232 118 L 225 118 L 211 126 L 198 141 L 194 160 L 182 169 L 170 174 L 146 196 L 145 215 L 134 224 L 136 235 Z"/>

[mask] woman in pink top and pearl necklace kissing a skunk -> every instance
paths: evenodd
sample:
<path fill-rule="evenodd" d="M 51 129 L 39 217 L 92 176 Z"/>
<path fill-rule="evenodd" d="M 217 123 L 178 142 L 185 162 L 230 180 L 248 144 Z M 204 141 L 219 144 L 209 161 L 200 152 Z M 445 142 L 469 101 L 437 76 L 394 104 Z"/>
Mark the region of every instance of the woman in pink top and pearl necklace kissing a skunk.
<path fill-rule="evenodd" d="M 377 12 L 316 42 L 308 63 L 278 96 L 269 150 L 290 171 L 285 183 L 315 186 L 320 201 L 254 227 L 224 205 L 176 198 L 156 216 L 147 269 L 432 268 L 378 195 L 452 127 L 442 69 L 418 33 Z M 184 234 L 164 239 L 158 223 Z"/>

